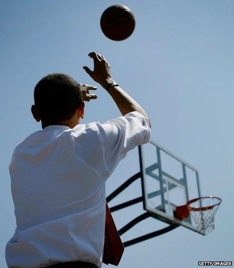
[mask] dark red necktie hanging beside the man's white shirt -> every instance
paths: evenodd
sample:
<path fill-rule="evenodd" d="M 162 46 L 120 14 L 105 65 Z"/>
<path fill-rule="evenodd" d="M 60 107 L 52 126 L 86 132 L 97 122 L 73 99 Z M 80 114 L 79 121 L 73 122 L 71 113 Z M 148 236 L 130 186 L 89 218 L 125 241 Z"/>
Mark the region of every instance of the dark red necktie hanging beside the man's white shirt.
<path fill-rule="evenodd" d="M 124 245 L 115 227 L 108 204 L 105 206 L 105 240 L 103 262 L 118 265 L 124 252 Z"/>

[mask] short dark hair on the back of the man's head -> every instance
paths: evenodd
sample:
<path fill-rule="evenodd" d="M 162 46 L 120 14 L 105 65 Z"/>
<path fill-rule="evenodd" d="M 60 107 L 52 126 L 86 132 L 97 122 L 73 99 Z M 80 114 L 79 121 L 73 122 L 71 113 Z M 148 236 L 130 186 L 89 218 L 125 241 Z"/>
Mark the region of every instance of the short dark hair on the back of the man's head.
<path fill-rule="evenodd" d="M 71 119 L 82 101 L 79 84 L 66 74 L 46 75 L 34 89 L 34 102 L 42 123 Z"/>

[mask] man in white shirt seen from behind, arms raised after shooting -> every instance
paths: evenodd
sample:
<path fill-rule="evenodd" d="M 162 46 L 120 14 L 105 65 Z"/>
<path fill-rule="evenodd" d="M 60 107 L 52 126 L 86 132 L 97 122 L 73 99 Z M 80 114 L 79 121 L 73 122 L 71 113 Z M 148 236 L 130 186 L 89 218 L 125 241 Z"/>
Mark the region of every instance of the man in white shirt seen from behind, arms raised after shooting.
<path fill-rule="evenodd" d="M 9 167 L 17 228 L 6 246 L 8 267 L 100 267 L 105 181 L 129 150 L 150 140 L 146 112 L 113 81 L 103 56 L 89 57 L 94 71 L 84 70 L 123 117 L 80 124 L 96 87 L 64 74 L 37 83 L 31 111 L 43 130 L 17 145 Z"/>

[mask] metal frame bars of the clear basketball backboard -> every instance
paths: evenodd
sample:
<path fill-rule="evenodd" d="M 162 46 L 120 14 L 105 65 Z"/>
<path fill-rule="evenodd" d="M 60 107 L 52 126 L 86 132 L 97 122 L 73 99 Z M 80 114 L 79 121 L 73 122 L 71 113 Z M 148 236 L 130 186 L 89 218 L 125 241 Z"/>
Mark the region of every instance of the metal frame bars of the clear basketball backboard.
<path fill-rule="evenodd" d="M 165 198 L 165 193 L 168 194 L 170 187 L 168 186 L 168 182 L 173 183 L 173 185 L 176 185 L 177 187 L 184 188 L 185 191 L 185 198 L 186 202 L 189 201 L 189 191 L 188 191 L 188 184 L 187 184 L 187 174 L 186 174 L 186 167 L 191 169 L 196 174 L 196 181 L 197 181 L 197 188 L 198 188 L 198 197 L 201 197 L 201 189 L 200 189 L 200 181 L 199 181 L 199 172 L 196 168 L 188 164 L 185 160 L 181 159 L 179 156 L 175 155 L 174 153 L 170 152 L 169 150 L 165 149 L 155 141 L 150 141 L 152 145 L 155 146 L 156 154 L 157 154 L 157 163 L 150 167 L 145 167 L 144 162 L 144 145 L 139 146 L 139 158 L 140 158 L 140 170 L 141 170 L 141 183 L 142 183 L 142 196 L 143 196 L 143 208 L 152 214 L 152 217 L 155 217 L 161 221 L 164 221 L 168 224 L 178 224 L 181 226 L 184 226 L 186 228 L 189 228 L 193 231 L 197 232 L 197 228 L 191 224 L 191 218 L 180 221 L 175 218 L 175 215 L 168 215 L 165 211 L 165 205 L 170 205 L 174 211 L 176 205 L 173 203 L 169 203 L 169 196 L 167 196 L 167 199 Z M 162 169 L 161 164 L 161 151 L 165 152 L 169 156 L 176 159 L 178 162 L 182 165 L 183 170 L 183 178 L 177 179 L 173 176 L 167 174 Z M 152 170 L 158 170 L 158 175 L 155 175 L 152 173 Z M 152 193 L 148 193 L 147 189 L 147 179 L 146 175 L 149 175 L 153 177 L 154 179 L 159 181 L 160 184 L 160 190 L 154 191 Z M 166 185 L 166 186 L 165 186 Z M 149 199 L 153 196 L 160 195 L 161 196 L 161 204 L 158 207 L 152 207 L 149 204 Z"/>

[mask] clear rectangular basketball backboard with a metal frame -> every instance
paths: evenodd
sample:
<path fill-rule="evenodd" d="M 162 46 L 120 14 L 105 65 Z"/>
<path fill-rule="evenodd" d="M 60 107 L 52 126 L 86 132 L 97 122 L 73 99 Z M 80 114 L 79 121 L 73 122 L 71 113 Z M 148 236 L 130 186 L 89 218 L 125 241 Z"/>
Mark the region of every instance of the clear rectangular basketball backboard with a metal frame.
<path fill-rule="evenodd" d="M 201 197 L 198 170 L 154 141 L 139 146 L 139 157 L 144 209 L 160 221 L 197 232 L 192 217 L 175 218 L 175 207 Z"/>

